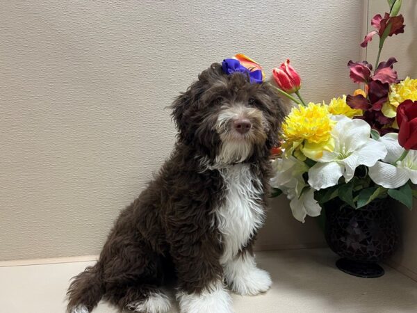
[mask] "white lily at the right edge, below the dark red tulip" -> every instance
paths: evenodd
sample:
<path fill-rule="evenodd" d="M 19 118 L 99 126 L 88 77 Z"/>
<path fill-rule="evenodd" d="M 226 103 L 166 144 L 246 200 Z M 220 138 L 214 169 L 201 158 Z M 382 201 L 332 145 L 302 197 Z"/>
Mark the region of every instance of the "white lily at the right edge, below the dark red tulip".
<path fill-rule="evenodd" d="M 388 154 L 383 162 L 378 161 L 369 168 L 369 177 L 384 188 L 404 186 L 409 179 L 417 184 L 417 151 L 410 150 L 402 161 L 397 162 L 404 152 L 404 148 L 398 143 L 398 134 L 386 134 L 379 141 L 385 145 Z"/>

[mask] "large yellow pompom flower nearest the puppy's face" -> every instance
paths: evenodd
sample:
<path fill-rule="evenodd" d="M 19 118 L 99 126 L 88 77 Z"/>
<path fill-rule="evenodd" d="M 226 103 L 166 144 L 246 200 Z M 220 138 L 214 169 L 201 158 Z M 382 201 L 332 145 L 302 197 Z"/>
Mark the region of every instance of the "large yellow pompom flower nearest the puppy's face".
<path fill-rule="evenodd" d="M 282 125 L 287 153 L 294 152 L 298 159 L 319 159 L 324 150 L 333 151 L 330 134 L 336 124 L 330 119 L 327 106 L 313 104 L 294 107 Z"/>

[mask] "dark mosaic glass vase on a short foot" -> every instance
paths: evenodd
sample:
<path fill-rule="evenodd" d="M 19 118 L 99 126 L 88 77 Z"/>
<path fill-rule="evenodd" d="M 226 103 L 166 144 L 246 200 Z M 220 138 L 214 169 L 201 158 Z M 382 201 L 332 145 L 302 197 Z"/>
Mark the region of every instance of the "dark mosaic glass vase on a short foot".
<path fill-rule="evenodd" d="M 384 269 L 377 263 L 398 248 L 400 231 L 389 202 L 375 200 L 361 209 L 341 207 L 340 200 L 325 205 L 325 237 L 338 254 L 336 266 L 345 273 L 377 278 Z"/>

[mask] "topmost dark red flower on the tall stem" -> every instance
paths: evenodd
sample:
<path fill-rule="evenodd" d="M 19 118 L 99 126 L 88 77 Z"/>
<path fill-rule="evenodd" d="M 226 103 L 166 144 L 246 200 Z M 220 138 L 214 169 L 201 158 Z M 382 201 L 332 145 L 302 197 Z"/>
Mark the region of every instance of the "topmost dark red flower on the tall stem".
<path fill-rule="evenodd" d="M 377 14 L 373 17 L 370 22 L 376 31 L 371 31 L 368 35 L 365 36 L 365 40 L 361 43 L 361 47 L 368 46 L 368 42 L 372 40 L 373 36 L 378 34 L 379 38 L 385 40 L 386 37 L 392 35 L 398 35 L 399 33 L 404 33 L 404 17 L 402 15 L 398 16 L 389 16 L 389 13 L 385 13 L 384 17 Z M 386 32 L 387 27 L 389 31 Z"/>

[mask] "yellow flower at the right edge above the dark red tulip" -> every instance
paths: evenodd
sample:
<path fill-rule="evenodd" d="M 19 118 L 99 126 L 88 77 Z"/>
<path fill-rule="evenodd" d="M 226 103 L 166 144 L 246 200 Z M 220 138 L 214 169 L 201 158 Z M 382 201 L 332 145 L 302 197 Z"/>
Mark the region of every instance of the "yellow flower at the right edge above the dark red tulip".
<path fill-rule="evenodd" d="M 417 79 L 407 77 L 400 83 L 391 84 L 388 98 L 389 101 L 382 106 L 382 113 L 387 118 L 395 118 L 397 106 L 408 99 L 417 100 Z"/>

